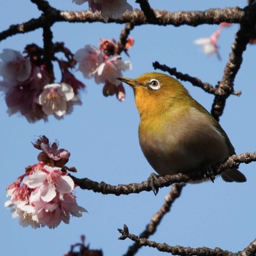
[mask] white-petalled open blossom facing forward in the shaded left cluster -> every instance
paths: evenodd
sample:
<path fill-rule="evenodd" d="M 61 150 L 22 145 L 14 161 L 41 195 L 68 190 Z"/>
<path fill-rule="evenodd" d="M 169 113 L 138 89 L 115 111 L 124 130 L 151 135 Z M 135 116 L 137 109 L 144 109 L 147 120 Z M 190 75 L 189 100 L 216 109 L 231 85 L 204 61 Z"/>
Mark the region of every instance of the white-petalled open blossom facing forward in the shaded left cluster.
<path fill-rule="evenodd" d="M 44 87 L 39 95 L 38 103 L 47 115 L 64 116 L 67 112 L 67 102 L 76 101 L 72 86 L 67 83 L 52 83 Z"/>

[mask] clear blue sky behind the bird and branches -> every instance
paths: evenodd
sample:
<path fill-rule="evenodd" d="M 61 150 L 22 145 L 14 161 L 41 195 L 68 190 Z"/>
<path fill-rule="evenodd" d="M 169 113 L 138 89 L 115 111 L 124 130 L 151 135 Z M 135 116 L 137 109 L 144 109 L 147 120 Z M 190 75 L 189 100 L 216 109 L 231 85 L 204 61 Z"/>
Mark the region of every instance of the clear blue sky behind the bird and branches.
<path fill-rule="evenodd" d="M 206 10 L 211 7 L 240 7 L 246 1 L 150 1 L 157 9 Z M 87 4 L 77 6 L 71 0 L 50 1 L 61 10 L 82 10 Z M 129 1 L 133 7 L 138 7 Z M 13 23 L 21 23 L 37 18 L 39 12 L 30 1 L 10 0 L 0 4 L 0 31 Z M 64 41 L 73 52 L 84 45 L 98 45 L 99 38 L 118 39 L 123 25 L 115 24 L 69 24 L 57 23 L 53 26 L 54 40 Z M 230 53 L 230 44 L 238 30 L 231 26 L 221 34 L 217 56 L 205 56 L 193 41 L 211 35 L 217 26 L 140 26 L 131 36 L 135 45 L 129 50 L 133 69 L 124 76 L 135 78 L 144 72 L 153 70 L 152 62 L 159 61 L 178 71 L 197 76 L 201 80 L 217 84 L 222 79 L 223 69 Z M 42 31 L 22 34 L 0 43 L 0 51 L 12 48 L 23 51 L 31 42 L 42 46 Z M 249 45 L 244 53 L 244 62 L 235 80 L 235 89 L 242 90 L 241 97 L 227 100 L 225 113 L 220 123 L 229 135 L 236 152 L 255 151 L 255 45 Z M 123 59 L 128 57 L 123 55 Z M 76 189 L 78 203 L 89 213 L 82 218 L 72 218 L 69 225 L 61 224 L 55 230 L 47 227 L 33 230 L 20 227 L 18 219 L 12 219 L 11 213 L 4 208 L 6 187 L 20 176 L 24 167 L 37 162 L 37 150 L 31 141 L 38 135 L 46 135 L 51 141 L 58 139 L 60 146 L 71 152 L 69 166 L 77 167 L 77 176 L 88 177 L 94 181 L 110 184 L 129 184 L 141 182 L 153 171 L 143 157 L 138 143 L 139 116 L 135 109 L 132 90 L 127 88 L 127 99 L 118 102 L 116 97 L 102 96 L 102 85 L 94 80 L 86 83 L 83 105 L 75 107 L 72 115 L 58 121 L 49 118 L 48 123 L 39 121 L 29 124 L 25 118 L 15 115 L 9 117 L 4 96 L 0 97 L 1 120 L 1 255 L 63 255 L 71 244 L 80 241 L 80 235 L 86 236 L 91 248 L 102 249 L 104 255 L 123 255 L 131 241 L 119 241 L 118 227 L 128 225 L 130 233 L 140 234 L 152 215 L 162 206 L 164 197 L 170 188 L 160 189 L 159 194 L 142 192 L 139 195 L 95 194 L 91 191 Z M 60 79 L 59 73 L 56 80 Z M 208 110 L 213 97 L 201 89 L 184 83 L 192 96 Z M 151 240 L 182 246 L 215 246 L 237 252 L 244 249 L 255 239 L 255 173 L 256 164 L 241 165 L 246 175 L 245 184 L 227 184 L 218 178 L 212 184 L 207 182 L 188 185 L 176 201 L 170 214 L 167 214 Z M 143 248 L 143 255 L 167 255 L 154 249 Z"/>

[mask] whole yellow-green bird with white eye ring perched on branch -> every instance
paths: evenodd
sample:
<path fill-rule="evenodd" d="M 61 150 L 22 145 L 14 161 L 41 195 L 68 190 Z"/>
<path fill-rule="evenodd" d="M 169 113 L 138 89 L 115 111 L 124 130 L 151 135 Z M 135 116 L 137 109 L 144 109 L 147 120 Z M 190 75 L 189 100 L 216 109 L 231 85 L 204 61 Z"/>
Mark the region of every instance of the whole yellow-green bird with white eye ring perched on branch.
<path fill-rule="evenodd" d="M 175 78 L 148 72 L 135 79 L 118 80 L 134 91 L 140 115 L 140 148 L 160 176 L 212 170 L 236 154 L 219 122 Z M 237 167 L 221 176 L 227 182 L 246 181 Z"/>

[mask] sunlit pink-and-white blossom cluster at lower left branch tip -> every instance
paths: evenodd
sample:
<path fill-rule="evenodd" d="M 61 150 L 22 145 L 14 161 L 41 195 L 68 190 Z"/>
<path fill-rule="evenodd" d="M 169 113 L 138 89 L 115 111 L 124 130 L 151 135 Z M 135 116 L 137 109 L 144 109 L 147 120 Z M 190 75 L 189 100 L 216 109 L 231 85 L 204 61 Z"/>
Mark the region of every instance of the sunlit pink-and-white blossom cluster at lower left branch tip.
<path fill-rule="evenodd" d="M 18 217 L 23 227 L 57 227 L 61 221 L 68 224 L 70 215 L 81 217 L 86 209 L 78 206 L 73 193 L 75 183 L 67 175 L 65 163 L 69 151 L 58 149 L 48 138 L 40 137 L 34 147 L 41 150 L 39 162 L 26 167 L 26 173 L 7 187 L 10 200 L 4 204 Z"/>

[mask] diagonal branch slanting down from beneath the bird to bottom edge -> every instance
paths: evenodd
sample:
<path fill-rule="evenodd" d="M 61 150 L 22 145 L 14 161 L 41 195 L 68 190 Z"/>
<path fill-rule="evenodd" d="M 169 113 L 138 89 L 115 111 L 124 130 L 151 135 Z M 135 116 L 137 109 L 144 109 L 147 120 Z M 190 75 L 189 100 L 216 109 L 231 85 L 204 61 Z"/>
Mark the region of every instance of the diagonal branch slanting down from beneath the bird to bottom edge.
<path fill-rule="evenodd" d="M 146 230 L 144 230 L 143 233 L 140 234 L 139 238 L 148 238 L 157 231 L 157 227 L 159 226 L 163 217 L 165 216 L 165 214 L 167 214 L 167 212 L 170 211 L 170 207 L 173 206 L 175 200 L 181 195 L 183 187 L 184 184 L 173 185 L 172 189 L 170 190 L 170 193 L 167 194 L 165 197 L 165 203 L 162 205 L 159 211 L 157 211 L 157 214 L 154 214 L 154 216 L 151 219 L 151 222 L 146 226 Z M 135 242 L 135 244 L 129 246 L 128 251 L 124 256 L 133 256 L 136 254 L 136 252 L 138 252 L 139 249 L 140 244 Z"/>

